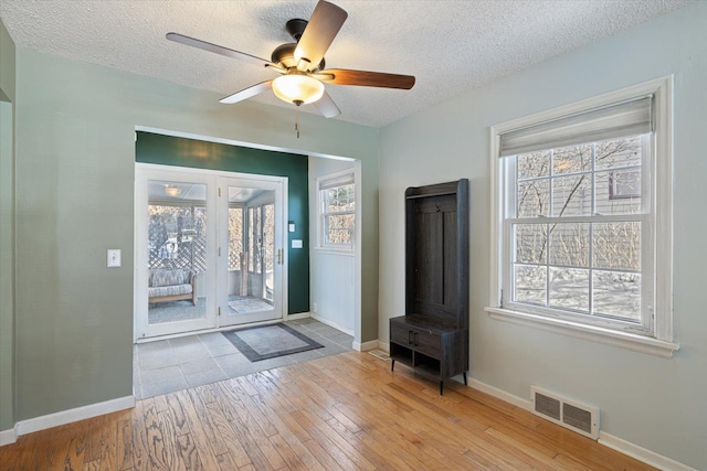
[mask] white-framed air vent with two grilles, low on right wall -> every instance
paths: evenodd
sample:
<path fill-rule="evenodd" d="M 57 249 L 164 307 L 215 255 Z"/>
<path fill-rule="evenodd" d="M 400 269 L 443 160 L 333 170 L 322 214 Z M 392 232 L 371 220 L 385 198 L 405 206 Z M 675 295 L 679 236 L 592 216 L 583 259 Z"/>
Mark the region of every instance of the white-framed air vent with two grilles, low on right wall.
<path fill-rule="evenodd" d="M 532 413 L 562 427 L 592 439 L 599 438 L 599 409 L 577 404 L 573 400 L 548 393 L 535 386 L 532 395 Z"/>

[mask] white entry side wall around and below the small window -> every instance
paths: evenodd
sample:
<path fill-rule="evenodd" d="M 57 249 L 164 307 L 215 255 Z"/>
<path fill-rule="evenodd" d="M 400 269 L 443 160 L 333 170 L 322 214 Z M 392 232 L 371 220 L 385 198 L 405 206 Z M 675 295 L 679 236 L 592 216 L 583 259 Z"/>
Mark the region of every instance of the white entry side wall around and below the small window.
<path fill-rule="evenodd" d="M 315 179 L 354 167 L 351 161 L 309 158 L 309 311 L 349 334 L 355 331 L 356 319 L 356 257 L 354 253 L 317 248 L 319 197 Z"/>

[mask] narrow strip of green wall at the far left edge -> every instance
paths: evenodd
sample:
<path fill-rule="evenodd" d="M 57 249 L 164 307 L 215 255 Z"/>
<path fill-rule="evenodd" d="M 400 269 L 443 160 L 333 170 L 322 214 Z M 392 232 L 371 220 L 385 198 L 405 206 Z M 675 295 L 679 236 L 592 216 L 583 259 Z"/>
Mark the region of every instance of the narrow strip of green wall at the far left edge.
<path fill-rule="evenodd" d="M 0 431 L 14 425 L 14 43 L 0 22 Z"/>

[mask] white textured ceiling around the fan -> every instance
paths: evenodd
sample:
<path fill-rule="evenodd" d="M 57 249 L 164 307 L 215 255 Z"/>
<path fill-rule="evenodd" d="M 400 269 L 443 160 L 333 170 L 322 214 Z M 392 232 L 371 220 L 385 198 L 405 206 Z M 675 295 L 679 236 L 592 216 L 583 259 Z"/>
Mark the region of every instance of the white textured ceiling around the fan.
<path fill-rule="evenodd" d="M 348 20 L 327 67 L 414 75 L 411 90 L 328 85 L 335 119 L 380 127 L 644 22 L 687 0 L 333 0 Z M 230 95 L 272 71 L 165 39 L 173 31 L 270 60 L 315 0 L 0 0 L 15 44 Z M 292 106 L 267 93 L 258 101 Z M 223 106 L 239 106 L 223 105 Z M 310 106 L 305 111 L 316 113 Z"/>

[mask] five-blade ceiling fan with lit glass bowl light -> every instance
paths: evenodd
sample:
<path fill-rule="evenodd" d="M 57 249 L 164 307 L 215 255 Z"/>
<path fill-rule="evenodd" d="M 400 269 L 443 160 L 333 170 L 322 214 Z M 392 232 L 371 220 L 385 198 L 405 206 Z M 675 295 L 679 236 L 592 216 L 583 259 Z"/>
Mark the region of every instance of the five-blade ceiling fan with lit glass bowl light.
<path fill-rule="evenodd" d="M 327 94 L 324 84 L 401 89 L 410 89 L 415 84 L 415 77 L 411 75 L 325 68 L 324 54 L 331 45 L 347 17 L 348 13 L 344 9 L 319 0 L 308 22 L 300 19 L 287 21 L 285 29 L 296 42 L 277 46 L 272 53 L 271 61 L 183 34 L 168 33 L 167 39 L 261 67 L 272 68 L 281 74 L 275 79 L 262 82 L 229 95 L 222 98 L 221 103 L 238 103 L 272 88 L 278 98 L 287 103 L 296 106 L 314 104 L 321 115 L 333 118 L 341 111 Z"/>

